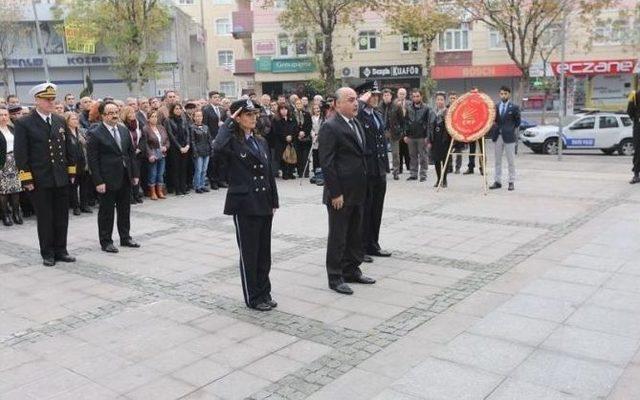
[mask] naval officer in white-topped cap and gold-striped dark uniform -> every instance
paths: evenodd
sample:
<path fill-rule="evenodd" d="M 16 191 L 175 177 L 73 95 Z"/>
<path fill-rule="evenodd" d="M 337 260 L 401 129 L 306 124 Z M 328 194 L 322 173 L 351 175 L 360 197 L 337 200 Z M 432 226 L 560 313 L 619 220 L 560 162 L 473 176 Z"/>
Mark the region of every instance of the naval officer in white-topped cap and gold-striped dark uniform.
<path fill-rule="evenodd" d="M 22 186 L 31 194 L 38 220 L 43 264 L 74 262 L 67 252 L 69 183 L 75 179 L 72 146 L 65 121 L 55 114 L 56 85 L 33 87 L 35 109 L 15 122 L 14 156 Z"/>

